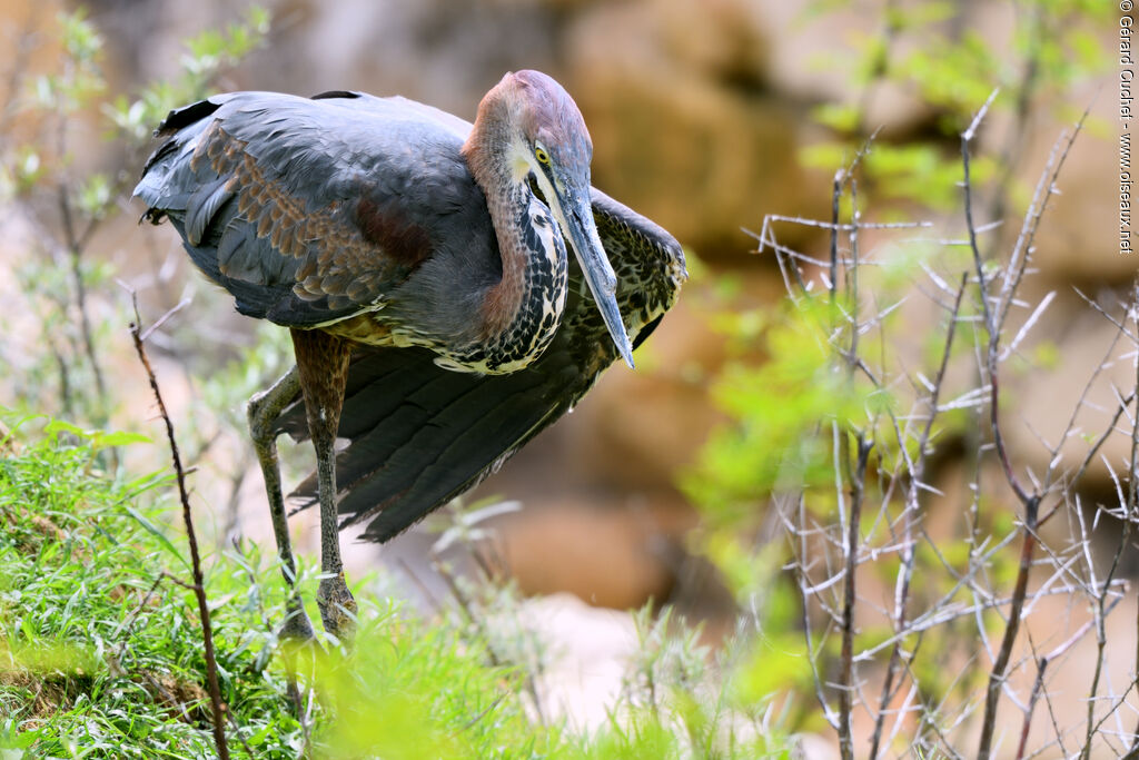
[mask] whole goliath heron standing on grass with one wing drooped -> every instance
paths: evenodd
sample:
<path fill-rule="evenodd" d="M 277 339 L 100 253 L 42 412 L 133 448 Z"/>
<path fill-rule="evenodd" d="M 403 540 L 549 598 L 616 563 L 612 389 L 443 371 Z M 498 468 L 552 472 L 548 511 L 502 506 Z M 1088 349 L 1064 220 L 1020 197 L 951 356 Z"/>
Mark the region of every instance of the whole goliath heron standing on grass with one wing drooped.
<path fill-rule="evenodd" d="M 473 487 L 617 356 L 632 366 L 686 277 L 675 239 L 590 187 L 584 121 L 539 72 L 503 76 L 474 124 L 399 97 L 235 92 L 156 136 L 144 218 L 170 219 L 239 312 L 292 330 L 296 367 L 249 425 L 290 586 L 276 439 L 313 441 L 296 495 L 320 507 L 334 634 L 355 610 L 338 529 L 371 518 L 384 541 Z M 311 637 L 290 605 L 285 634 Z"/>

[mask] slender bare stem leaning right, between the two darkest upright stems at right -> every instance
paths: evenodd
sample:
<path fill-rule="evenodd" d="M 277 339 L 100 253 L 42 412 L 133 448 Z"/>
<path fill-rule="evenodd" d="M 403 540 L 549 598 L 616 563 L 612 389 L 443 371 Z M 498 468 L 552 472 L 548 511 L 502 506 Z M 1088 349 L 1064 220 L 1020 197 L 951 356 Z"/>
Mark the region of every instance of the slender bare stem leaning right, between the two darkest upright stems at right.
<path fill-rule="evenodd" d="M 874 735 L 870 738 L 870 760 L 878 757 L 878 746 L 882 741 L 882 729 L 886 718 L 886 705 L 894 697 L 894 677 L 898 673 L 899 662 L 902 655 L 901 634 L 906 628 L 906 603 L 909 598 L 910 579 L 913 577 L 913 561 L 916 553 L 912 542 L 912 518 L 918 509 L 918 489 L 921 479 L 925 476 L 926 447 L 929 444 L 929 434 L 933 431 L 933 423 L 937 418 L 937 402 L 941 397 L 941 389 L 945 381 L 945 371 L 949 368 L 949 358 L 953 348 L 953 335 L 957 332 L 957 317 L 961 311 L 961 297 L 965 295 L 965 286 L 968 283 L 968 275 L 961 275 L 961 285 L 957 288 L 957 296 L 953 301 L 953 310 L 949 316 L 949 328 L 945 333 L 945 350 L 941 354 L 941 366 L 933 382 L 933 391 L 929 392 L 929 417 L 926 418 L 925 428 L 918 440 L 917 459 L 910 471 L 910 484 L 906 504 L 906 529 L 902 539 L 902 567 L 899 573 L 898 589 L 894 594 L 894 634 L 899 636 L 890 653 L 890 662 L 886 665 L 886 678 L 882 685 L 882 698 L 878 702 L 878 714 L 874 721 Z M 899 680 L 898 688 L 902 681 Z"/>

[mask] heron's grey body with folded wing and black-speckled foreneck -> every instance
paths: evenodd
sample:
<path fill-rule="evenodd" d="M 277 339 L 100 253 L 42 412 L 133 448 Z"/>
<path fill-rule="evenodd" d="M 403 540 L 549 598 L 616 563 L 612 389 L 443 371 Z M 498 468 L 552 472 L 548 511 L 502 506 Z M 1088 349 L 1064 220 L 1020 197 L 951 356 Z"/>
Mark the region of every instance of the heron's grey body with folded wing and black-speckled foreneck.
<path fill-rule="evenodd" d="M 238 92 L 174 112 L 136 193 L 241 313 L 485 374 L 525 366 L 565 300 L 549 209 L 533 194 L 521 205 L 503 248 L 523 263 L 505 280 L 462 138 L 360 99 Z"/>

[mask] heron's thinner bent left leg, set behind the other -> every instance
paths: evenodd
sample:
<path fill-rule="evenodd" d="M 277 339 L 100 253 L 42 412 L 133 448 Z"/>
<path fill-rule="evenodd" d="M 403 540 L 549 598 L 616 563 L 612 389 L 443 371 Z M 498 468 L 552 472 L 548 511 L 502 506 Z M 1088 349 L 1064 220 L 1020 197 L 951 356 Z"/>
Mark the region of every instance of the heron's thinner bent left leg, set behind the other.
<path fill-rule="evenodd" d="M 296 561 L 293 558 L 293 542 L 288 536 L 288 520 L 285 516 L 285 497 L 281 495 L 280 461 L 277 458 L 277 431 L 273 422 L 301 387 L 301 376 L 296 367 L 282 375 L 272 386 L 249 399 L 245 411 L 249 419 L 249 435 L 253 449 L 261 464 L 261 475 L 265 480 L 265 496 L 269 498 L 269 516 L 277 539 L 277 556 L 281 561 L 281 574 L 289 587 L 288 616 L 281 627 L 281 635 L 298 639 L 313 638 L 312 621 L 296 593 Z"/>

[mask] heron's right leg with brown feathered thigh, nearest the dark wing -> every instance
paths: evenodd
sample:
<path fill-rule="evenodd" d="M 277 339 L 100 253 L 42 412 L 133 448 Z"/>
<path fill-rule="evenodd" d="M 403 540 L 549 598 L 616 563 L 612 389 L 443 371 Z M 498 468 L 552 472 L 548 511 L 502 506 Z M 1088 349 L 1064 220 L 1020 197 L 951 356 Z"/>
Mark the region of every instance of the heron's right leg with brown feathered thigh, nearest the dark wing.
<path fill-rule="evenodd" d="M 323 578 L 317 604 L 325 630 L 336 636 L 351 632 L 355 599 L 344 582 L 339 522 L 336 513 L 336 433 L 344 404 L 351 344 L 320 330 L 293 330 L 293 349 L 304 392 L 309 432 L 317 449 L 317 484 L 320 497 L 320 571 Z"/>

